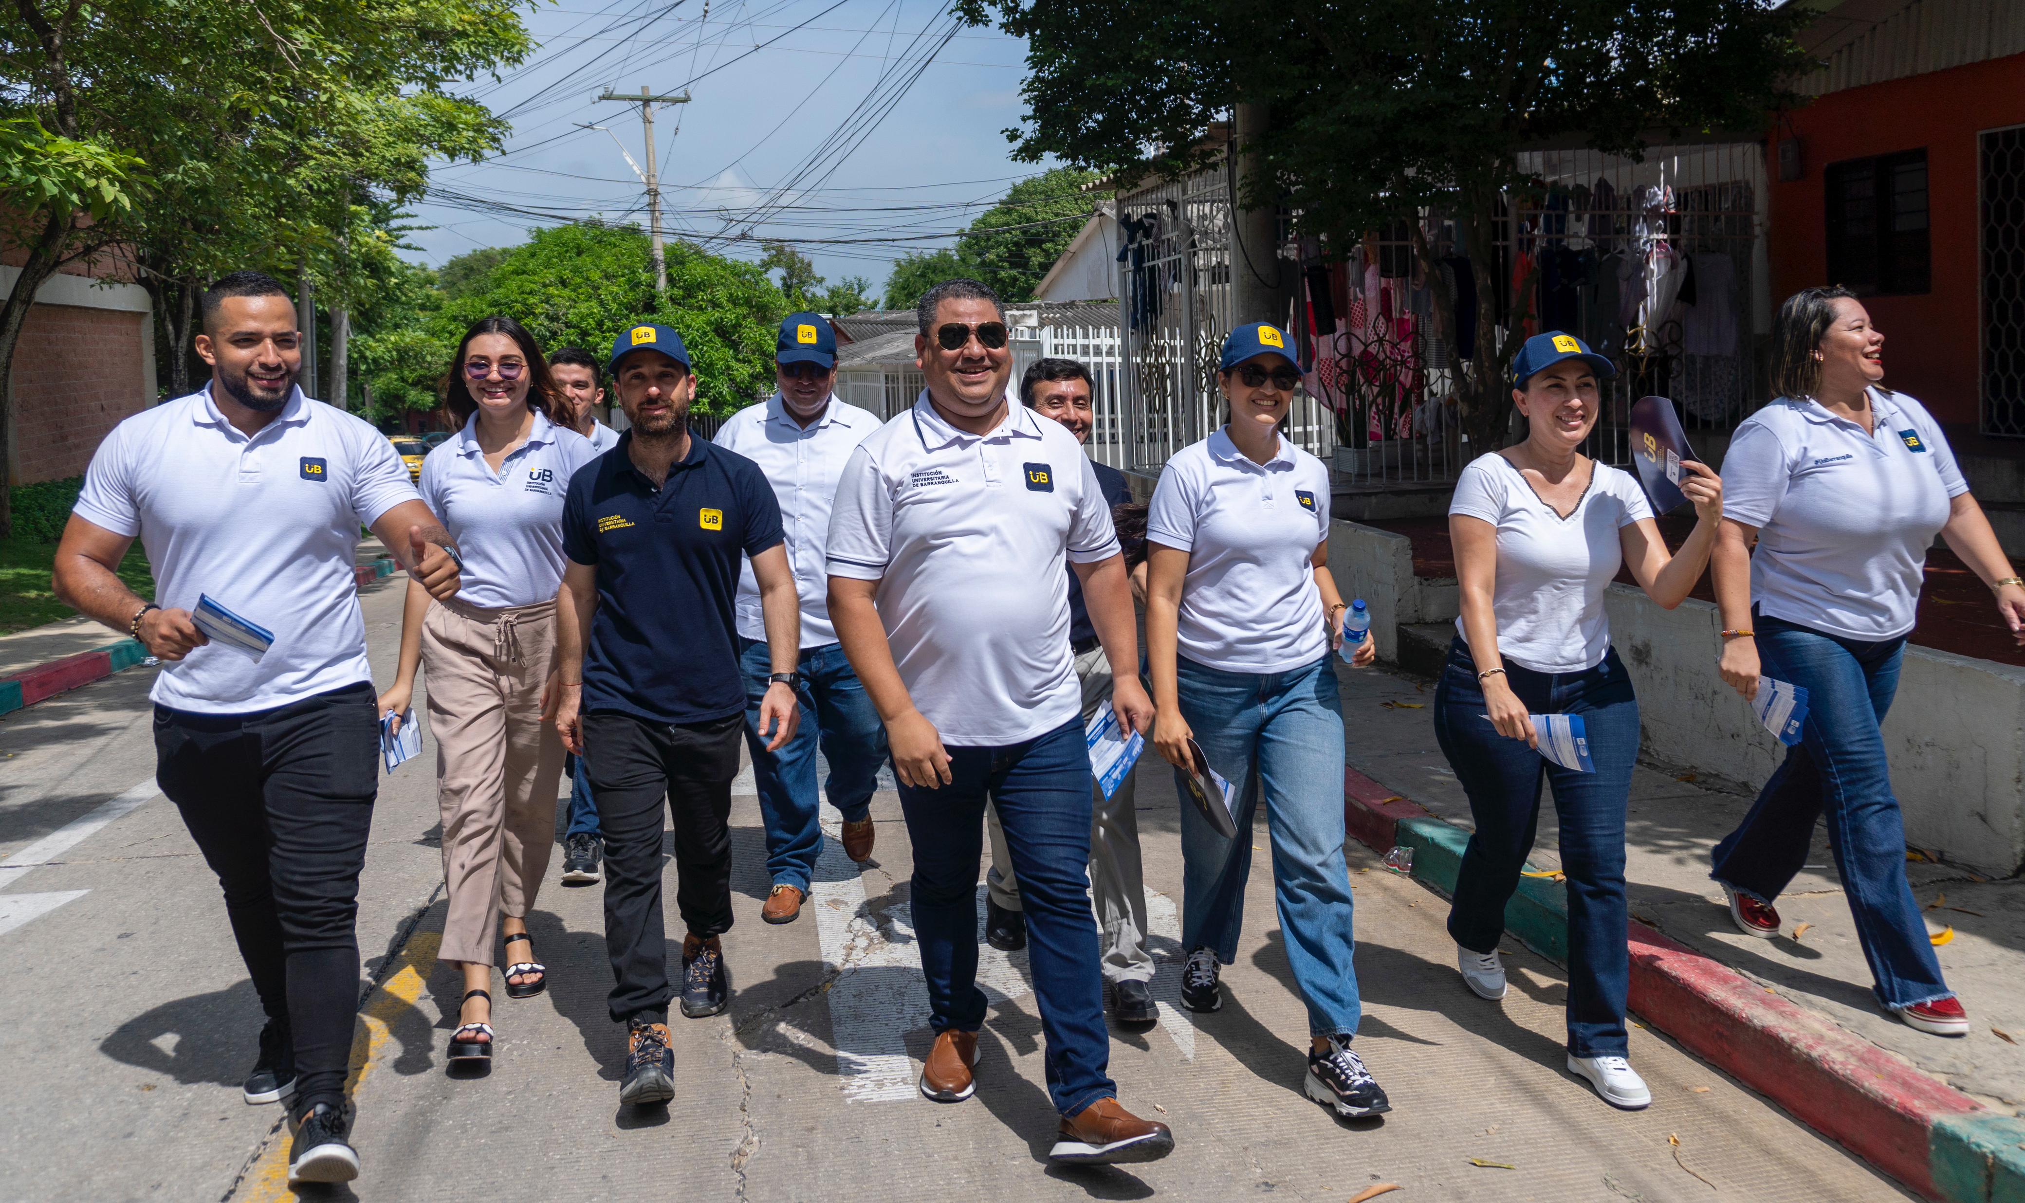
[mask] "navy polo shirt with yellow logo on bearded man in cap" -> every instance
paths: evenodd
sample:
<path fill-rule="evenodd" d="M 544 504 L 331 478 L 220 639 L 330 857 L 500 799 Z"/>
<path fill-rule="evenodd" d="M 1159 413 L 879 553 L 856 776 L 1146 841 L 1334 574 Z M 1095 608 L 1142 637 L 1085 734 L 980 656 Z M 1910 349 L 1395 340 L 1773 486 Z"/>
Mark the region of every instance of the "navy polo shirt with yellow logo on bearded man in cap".
<path fill-rule="evenodd" d="M 583 711 L 709 723 L 745 711 L 731 604 L 739 563 L 780 547 L 780 502 L 759 466 L 709 439 L 654 488 L 632 431 L 569 478 L 563 553 L 597 569 Z"/>

